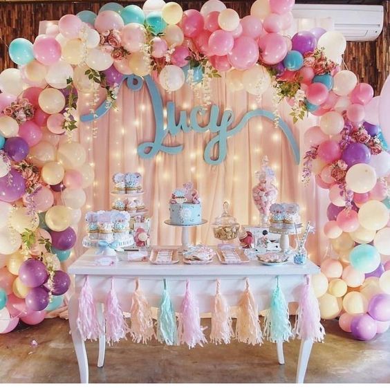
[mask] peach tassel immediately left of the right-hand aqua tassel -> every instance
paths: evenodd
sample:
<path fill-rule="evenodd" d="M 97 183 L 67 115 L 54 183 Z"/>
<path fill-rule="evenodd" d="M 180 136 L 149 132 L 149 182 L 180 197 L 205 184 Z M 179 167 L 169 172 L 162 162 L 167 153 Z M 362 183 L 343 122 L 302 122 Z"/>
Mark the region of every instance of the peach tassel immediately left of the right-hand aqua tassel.
<path fill-rule="evenodd" d="M 249 289 L 249 280 L 237 307 L 236 339 L 246 344 L 262 344 L 263 334 L 259 322 L 257 305 Z"/>

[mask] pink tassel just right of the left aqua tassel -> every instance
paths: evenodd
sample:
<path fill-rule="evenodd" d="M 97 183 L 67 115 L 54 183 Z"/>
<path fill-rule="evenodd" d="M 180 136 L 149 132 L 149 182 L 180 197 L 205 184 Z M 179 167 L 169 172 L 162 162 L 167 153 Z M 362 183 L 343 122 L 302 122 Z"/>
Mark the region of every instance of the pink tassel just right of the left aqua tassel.
<path fill-rule="evenodd" d="M 196 344 L 203 347 L 203 343 L 207 343 L 201 326 L 201 317 L 199 315 L 199 307 L 196 299 L 189 290 L 189 281 L 185 286 L 185 295 L 180 308 L 178 317 L 178 335 L 180 344 L 187 344 L 188 348 L 195 347 Z"/>

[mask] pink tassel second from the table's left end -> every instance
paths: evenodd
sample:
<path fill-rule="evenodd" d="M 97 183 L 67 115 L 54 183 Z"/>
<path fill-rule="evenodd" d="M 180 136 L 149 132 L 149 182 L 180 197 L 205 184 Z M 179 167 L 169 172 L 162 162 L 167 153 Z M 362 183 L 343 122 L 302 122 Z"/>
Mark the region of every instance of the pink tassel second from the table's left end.
<path fill-rule="evenodd" d="M 127 326 L 122 308 L 120 308 L 113 277 L 111 277 L 111 289 L 104 306 L 104 318 L 106 321 L 106 342 L 112 344 L 112 342 L 119 342 L 122 338 L 126 338 L 129 326 Z"/>

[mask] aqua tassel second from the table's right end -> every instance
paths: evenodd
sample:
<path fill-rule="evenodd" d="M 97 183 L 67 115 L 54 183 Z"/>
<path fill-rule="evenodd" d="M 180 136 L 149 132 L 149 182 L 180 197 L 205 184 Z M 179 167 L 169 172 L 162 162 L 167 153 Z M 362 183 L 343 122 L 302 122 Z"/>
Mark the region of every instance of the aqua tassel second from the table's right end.
<path fill-rule="evenodd" d="M 266 313 L 264 335 L 270 342 L 288 341 L 293 335 L 288 316 L 288 304 L 279 286 L 279 276 L 277 276 L 276 287 L 272 291 L 270 308 Z"/>

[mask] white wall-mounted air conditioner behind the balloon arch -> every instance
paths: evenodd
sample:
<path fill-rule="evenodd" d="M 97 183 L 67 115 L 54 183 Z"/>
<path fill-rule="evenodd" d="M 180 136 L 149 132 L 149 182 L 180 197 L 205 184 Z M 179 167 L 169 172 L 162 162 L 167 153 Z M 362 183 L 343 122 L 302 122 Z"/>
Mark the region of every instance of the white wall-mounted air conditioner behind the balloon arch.
<path fill-rule="evenodd" d="M 333 20 L 335 30 L 348 41 L 375 40 L 383 28 L 383 6 L 353 4 L 295 4 L 295 19 Z"/>

